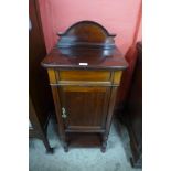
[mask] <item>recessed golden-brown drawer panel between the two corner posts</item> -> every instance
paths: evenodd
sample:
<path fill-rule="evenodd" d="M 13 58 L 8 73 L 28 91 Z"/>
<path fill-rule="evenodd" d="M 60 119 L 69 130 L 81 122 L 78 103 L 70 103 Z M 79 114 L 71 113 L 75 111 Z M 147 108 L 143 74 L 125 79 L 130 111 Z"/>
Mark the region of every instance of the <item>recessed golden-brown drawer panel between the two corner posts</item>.
<path fill-rule="evenodd" d="M 61 81 L 109 81 L 109 71 L 58 71 Z"/>

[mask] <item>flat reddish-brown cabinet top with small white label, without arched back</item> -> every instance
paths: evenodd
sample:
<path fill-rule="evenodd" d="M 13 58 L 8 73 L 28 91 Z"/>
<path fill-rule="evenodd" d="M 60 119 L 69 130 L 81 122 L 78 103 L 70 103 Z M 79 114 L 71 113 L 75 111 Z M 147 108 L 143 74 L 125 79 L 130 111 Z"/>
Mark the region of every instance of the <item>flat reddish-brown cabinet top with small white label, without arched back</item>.
<path fill-rule="evenodd" d="M 115 56 L 115 57 L 114 57 Z M 87 66 L 79 65 L 79 63 L 87 63 Z M 75 70 L 125 70 L 127 63 L 117 47 L 90 49 L 90 47 L 73 47 L 58 49 L 54 46 L 51 53 L 43 60 L 44 67 L 57 67 Z"/>

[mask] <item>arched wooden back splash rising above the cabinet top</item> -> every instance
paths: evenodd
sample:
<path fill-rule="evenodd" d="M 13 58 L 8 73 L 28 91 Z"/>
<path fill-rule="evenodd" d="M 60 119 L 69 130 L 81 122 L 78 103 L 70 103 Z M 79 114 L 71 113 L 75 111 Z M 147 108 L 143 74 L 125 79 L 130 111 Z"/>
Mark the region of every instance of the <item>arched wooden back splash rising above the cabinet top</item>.
<path fill-rule="evenodd" d="M 110 34 L 97 22 L 79 21 L 70 26 L 64 33 L 58 33 L 58 47 L 103 47 L 114 49 L 116 34 Z"/>

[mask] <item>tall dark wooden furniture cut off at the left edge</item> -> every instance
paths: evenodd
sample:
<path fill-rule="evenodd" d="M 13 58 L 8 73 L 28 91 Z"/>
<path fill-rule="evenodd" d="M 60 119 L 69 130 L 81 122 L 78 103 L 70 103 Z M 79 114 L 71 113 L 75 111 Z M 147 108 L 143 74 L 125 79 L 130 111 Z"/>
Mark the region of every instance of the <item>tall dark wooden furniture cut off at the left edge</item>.
<path fill-rule="evenodd" d="M 40 66 L 40 62 L 46 55 L 46 50 L 36 0 L 29 0 L 29 95 L 31 100 L 29 116 L 33 125 L 30 137 L 41 138 L 47 151 L 51 151 L 45 135 L 50 114 L 53 110 L 53 100 L 51 88 L 47 86 L 47 73 Z"/>

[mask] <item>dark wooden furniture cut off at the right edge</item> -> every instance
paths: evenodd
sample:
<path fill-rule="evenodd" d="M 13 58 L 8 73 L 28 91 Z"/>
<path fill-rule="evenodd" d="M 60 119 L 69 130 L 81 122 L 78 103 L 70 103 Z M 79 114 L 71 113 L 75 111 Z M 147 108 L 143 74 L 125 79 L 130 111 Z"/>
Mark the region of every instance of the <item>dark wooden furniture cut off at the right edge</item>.
<path fill-rule="evenodd" d="M 126 106 L 126 125 L 132 151 L 131 163 L 142 167 L 142 44 L 137 44 L 137 61 Z"/>

